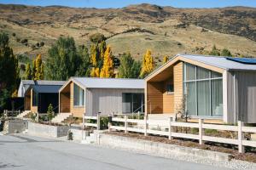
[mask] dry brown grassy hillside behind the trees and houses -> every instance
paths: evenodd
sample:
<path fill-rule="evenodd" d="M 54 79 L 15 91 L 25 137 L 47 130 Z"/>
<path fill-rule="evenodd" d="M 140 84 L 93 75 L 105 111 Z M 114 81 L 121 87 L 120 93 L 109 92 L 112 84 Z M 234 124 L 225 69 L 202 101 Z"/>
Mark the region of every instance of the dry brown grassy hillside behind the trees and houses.
<path fill-rule="evenodd" d="M 256 56 L 256 8 L 172 8 L 151 4 L 125 8 L 68 8 L 0 5 L 0 31 L 7 31 L 16 54 L 47 55 L 59 36 L 89 43 L 96 32 L 108 37 L 113 54 L 141 58 L 147 48 L 164 54 L 204 53 L 213 44 L 233 54 Z M 27 44 L 19 42 L 27 39 Z M 44 42 L 44 47 L 35 47 Z M 160 61 L 159 61 L 160 62 Z"/>

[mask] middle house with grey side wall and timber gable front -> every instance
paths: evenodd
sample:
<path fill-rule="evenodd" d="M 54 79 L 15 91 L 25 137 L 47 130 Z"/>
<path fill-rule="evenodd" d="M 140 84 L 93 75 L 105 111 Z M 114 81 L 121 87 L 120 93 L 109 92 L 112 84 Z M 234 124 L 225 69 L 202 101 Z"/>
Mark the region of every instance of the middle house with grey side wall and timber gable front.
<path fill-rule="evenodd" d="M 144 112 L 140 79 L 71 77 L 60 89 L 60 113 L 74 117 Z"/>

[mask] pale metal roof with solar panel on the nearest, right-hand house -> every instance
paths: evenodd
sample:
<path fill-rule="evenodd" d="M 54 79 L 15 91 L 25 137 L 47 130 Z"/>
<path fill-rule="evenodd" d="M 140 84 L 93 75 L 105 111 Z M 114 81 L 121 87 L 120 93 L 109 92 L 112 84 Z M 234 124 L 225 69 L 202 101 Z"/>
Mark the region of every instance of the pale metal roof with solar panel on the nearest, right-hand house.
<path fill-rule="evenodd" d="M 256 65 L 242 64 L 227 57 L 195 55 L 195 54 L 177 54 L 187 59 L 193 59 L 207 65 L 217 66 L 225 70 L 241 70 L 241 71 L 256 71 Z"/>

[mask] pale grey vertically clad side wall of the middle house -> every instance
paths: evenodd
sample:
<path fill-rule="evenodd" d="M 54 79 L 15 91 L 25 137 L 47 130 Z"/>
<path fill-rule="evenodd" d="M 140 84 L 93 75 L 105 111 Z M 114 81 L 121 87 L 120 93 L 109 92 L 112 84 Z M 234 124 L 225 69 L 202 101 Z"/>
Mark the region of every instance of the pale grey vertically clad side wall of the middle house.
<path fill-rule="evenodd" d="M 86 88 L 85 110 L 87 116 L 122 113 L 123 93 L 144 93 L 144 89 Z"/>

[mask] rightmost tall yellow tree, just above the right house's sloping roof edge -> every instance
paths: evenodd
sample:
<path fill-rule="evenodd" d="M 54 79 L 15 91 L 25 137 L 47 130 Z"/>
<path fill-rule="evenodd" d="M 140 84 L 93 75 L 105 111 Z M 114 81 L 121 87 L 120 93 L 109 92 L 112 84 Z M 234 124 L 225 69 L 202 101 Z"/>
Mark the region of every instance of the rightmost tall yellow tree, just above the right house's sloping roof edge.
<path fill-rule="evenodd" d="M 143 67 L 140 74 L 140 77 L 146 77 L 151 71 L 154 70 L 154 59 L 151 55 L 151 50 L 147 50 L 146 54 L 143 57 Z"/>

